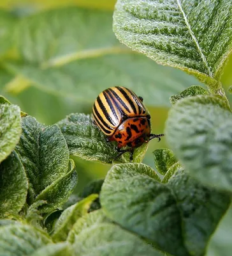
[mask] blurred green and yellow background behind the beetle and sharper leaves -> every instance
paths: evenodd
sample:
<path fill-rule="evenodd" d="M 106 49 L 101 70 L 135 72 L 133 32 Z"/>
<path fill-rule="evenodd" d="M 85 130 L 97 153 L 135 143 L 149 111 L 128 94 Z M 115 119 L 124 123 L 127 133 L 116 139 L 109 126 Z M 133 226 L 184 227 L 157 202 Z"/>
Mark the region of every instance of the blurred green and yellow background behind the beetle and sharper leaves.
<path fill-rule="evenodd" d="M 120 84 L 143 97 L 153 132 L 163 132 L 169 97 L 200 83 L 120 44 L 112 31 L 114 4 L 114 0 L 1 0 L 0 93 L 49 125 L 70 113 L 91 113 L 98 93 Z M 231 68 L 232 56 L 222 76 L 226 91 L 232 84 Z M 165 139 L 151 141 L 143 163 L 154 168 L 152 151 L 163 147 Z M 110 168 L 77 158 L 75 162 L 76 193 L 91 180 L 105 177 Z M 232 209 L 214 234 L 208 255 L 231 255 L 231 223 Z"/>

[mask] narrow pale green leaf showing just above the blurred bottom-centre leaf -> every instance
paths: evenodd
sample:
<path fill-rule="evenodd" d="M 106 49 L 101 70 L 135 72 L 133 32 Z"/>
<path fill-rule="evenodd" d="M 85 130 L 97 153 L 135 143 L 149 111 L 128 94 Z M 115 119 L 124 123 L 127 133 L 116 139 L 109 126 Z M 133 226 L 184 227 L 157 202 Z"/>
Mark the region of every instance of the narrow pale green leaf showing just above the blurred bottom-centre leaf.
<path fill-rule="evenodd" d="M 76 223 L 73 225 L 73 228 L 68 234 L 67 241 L 69 243 L 75 243 L 76 237 L 86 230 L 91 230 L 93 227 L 97 227 L 101 223 L 111 223 L 103 211 L 97 210 L 90 212 L 89 214 L 83 215 L 81 218 L 78 218 Z"/>

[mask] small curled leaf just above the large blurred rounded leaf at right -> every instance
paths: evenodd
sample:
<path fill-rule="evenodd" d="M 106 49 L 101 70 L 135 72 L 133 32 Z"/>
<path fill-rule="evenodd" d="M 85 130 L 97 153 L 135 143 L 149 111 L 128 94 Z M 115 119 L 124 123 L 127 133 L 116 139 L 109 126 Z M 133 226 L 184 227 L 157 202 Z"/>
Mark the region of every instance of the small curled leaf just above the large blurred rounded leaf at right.
<path fill-rule="evenodd" d="M 205 90 L 203 87 L 198 85 L 192 85 L 186 90 L 184 90 L 181 93 L 178 93 L 177 95 L 173 95 L 170 97 L 171 104 L 175 104 L 178 102 L 178 100 L 184 99 L 186 97 L 196 96 L 196 95 L 208 95 L 207 90 Z"/>

